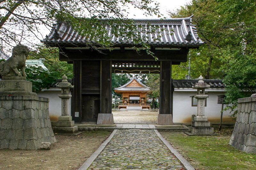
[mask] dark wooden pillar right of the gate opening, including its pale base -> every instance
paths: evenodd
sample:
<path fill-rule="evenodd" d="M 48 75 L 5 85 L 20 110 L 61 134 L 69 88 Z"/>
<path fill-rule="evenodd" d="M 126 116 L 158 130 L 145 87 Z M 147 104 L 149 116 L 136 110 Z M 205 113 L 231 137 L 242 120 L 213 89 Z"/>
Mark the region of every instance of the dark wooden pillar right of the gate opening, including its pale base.
<path fill-rule="evenodd" d="M 172 121 L 172 61 L 160 63 L 160 110 L 158 125 L 173 125 Z"/>

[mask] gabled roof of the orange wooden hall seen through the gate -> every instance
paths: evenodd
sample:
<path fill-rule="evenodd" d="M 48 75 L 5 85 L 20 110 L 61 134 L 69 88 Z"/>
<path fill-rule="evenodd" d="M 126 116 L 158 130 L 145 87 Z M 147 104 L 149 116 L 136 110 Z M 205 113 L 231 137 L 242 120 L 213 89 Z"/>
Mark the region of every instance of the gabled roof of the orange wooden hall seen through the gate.
<path fill-rule="evenodd" d="M 128 86 L 130 85 L 133 81 L 136 81 L 139 85 L 141 85 L 141 87 L 132 87 L 132 86 Z M 115 91 L 144 91 L 144 92 L 148 92 L 150 90 L 150 87 L 147 87 L 146 85 L 142 84 L 137 78 L 133 77 L 132 80 L 130 80 L 128 83 L 126 83 L 125 85 L 115 88 Z"/>

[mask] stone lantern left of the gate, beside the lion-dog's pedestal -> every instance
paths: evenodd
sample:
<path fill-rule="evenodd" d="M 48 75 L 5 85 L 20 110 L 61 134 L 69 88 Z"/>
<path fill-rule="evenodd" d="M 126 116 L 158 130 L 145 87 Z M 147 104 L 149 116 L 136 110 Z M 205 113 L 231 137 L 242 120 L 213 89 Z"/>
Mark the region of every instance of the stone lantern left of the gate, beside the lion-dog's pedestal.
<path fill-rule="evenodd" d="M 56 122 L 56 127 L 53 128 L 55 133 L 65 133 L 74 134 L 78 131 L 78 127 L 74 126 L 75 121 L 72 121 L 72 116 L 68 115 L 68 100 L 72 95 L 69 94 L 69 89 L 74 88 L 71 83 L 68 82 L 67 76 L 62 76 L 62 81 L 56 84 L 57 88 L 61 88 L 61 116 L 59 116 L 59 121 Z"/>

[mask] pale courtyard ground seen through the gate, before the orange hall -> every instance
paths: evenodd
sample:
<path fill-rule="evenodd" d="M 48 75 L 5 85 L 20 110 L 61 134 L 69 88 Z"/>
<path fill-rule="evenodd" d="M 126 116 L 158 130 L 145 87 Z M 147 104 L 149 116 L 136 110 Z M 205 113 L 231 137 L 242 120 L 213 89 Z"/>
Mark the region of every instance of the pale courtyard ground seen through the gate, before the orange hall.
<path fill-rule="evenodd" d="M 112 112 L 114 122 L 157 122 L 157 115 L 159 112 L 146 112 L 146 111 L 118 111 Z"/>

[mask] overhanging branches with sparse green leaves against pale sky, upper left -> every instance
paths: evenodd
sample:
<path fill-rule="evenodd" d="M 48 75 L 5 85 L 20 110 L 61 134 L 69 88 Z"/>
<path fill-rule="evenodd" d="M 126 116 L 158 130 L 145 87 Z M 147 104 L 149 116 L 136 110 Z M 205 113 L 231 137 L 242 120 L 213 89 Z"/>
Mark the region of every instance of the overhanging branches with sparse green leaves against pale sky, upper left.
<path fill-rule="evenodd" d="M 49 33 L 54 29 L 52 24 L 61 21 L 88 37 L 86 45 L 92 48 L 95 46 L 91 40 L 98 37 L 97 46 L 112 45 L 105 29 L 107 24 L 116 26 L 114 33 L 126 32 L 127 37 L 139 43 L 140 36 L 127 32 L 134 30 L 132 19 L 127 19 L 129 7 L 144 11 L 145 16 L 160 17 L 158 3 L 153 0 L 0 0 L 0 40 L 8 49 L 23 44 L 33 51 L 45 37 L 42 32 Z"/>

